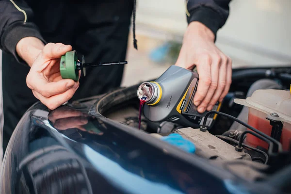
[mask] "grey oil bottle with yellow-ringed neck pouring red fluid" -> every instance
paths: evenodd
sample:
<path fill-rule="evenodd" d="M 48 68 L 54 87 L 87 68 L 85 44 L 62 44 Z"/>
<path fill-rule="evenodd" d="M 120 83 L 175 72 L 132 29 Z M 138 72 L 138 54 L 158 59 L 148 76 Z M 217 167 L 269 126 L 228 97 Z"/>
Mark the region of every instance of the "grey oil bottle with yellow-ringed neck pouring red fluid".
<path fill-rule="evenodd" d="M 196 71 L 170 66 L 158 79 L 143 82 L 137 96 L 145 101 L 143 113 L 152 122 L 170 121 L 184 127 L 199 128 L 207 112 L 198 113 L 193 103 L 199 76 Z M 216 103 L 212 110 L 219 110 Z M 207 118 L 206 126 L 214 123 L 215 115 Z"/>

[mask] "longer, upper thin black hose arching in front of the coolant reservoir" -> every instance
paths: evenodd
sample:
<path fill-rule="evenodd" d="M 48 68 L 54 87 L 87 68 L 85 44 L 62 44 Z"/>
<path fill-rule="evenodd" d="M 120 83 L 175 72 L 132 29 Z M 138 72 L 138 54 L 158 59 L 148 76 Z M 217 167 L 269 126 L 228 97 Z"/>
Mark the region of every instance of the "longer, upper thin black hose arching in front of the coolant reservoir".
<path fill-rule="evenodd" d="M 200 127 L 200 129 L 201 129 L 201 128 L 202 128 L 202 129 L 206 129 L 205 126 L 206 126 L 207 118 L 210 116 L 210 114 L 213 114 L 213 113 L 216 113 L 216 114 L 218 114 L 218 115 L 222 115 L 222 116 L 226 116 L 227 118 L 230 118 L 230 119 L 232 119 L 232 120 L 234 120 L 234 121 L 236 121 L 236 122 L 242 124 L 244 127 L 246 127 L 246 128 L 248 128 L 248 129 L 251 129 L 251 130 L 255 131 L 255 132 L 258 133 L 259 135 L 261 135 L 261 136 L 263 136 L 264 138 L 266 138 L 266 139 L 270 140 L 271 142 L 275 143 L 275 144 L 278 146 L 278 151 L 279 151 L 279 152 L 282 152 L 283 149 L 282 149 L 282 144 L 281 144 L 280 142 L 278 142 L 278 141 L 275 140 L 274 138 L 272 138 L 272 137 L 266 135 L 265 133 L 259 131 L 258 129 L 255 129 L 255 128 L 253 128 L 252 126 L 250 126 L 250 125 L 248 125 L 248 124 L 242 122 L 241 120 L 237 119 L 236 117 L 231 116 L 231 115 L 226 114 L 226 113 L 221 113 L 221 112 L 218 112 L 218 111 L 210 111 L 210 112 L 206 113 L 206 114 L 205 114 L 205 117 L 204 117 L 203 125 L 202 125 L 202 127 Z M 272 150 L 272 151 L 273 151 L 273 150 Z"/>

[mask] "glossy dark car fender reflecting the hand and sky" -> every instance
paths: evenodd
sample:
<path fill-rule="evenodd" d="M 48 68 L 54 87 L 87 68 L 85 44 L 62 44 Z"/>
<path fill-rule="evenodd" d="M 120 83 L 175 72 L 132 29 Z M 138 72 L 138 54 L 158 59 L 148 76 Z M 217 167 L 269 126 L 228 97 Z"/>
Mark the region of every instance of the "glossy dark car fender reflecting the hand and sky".
<path fill-rule="evenodd" d="M 70 106 L 49 111 L 36 103 L 23 115 L 4 156 L 1 194 L 272 192 L 143 131 L 90 116 L 90 104 Z"/>

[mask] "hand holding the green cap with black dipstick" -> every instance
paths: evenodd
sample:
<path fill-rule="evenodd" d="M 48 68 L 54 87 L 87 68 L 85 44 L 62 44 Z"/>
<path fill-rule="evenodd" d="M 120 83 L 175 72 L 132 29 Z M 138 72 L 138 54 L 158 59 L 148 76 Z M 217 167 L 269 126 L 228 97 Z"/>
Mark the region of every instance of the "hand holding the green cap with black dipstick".
<path fill-rule="evenodd" d="M 79 87 L 79 81 L 62 79 L 60 73 L 60 58 L 71 50 L 70 45 L 47 44 L 35 58 L 26 78 L 33 95 L 51 110 L 73 97 Z"/>

